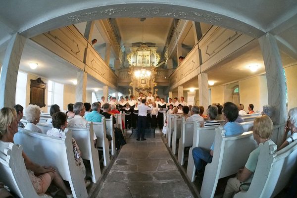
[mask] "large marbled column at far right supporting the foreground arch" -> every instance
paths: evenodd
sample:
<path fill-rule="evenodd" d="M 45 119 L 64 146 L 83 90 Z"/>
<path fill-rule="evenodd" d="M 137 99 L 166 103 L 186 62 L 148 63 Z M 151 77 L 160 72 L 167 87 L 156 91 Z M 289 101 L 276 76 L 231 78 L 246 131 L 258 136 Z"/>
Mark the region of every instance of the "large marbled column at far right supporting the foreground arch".
<path fill-rule="evenodd" d="M 276 43 L 276 39 L 271 34 L 263 35 L 259 38 L 259 44 L 265 64 L 268 103 L 274 107 L 274 124 L 286 122 L 286 87 L 283 74 L 283 64 L 281 55 Z"/>

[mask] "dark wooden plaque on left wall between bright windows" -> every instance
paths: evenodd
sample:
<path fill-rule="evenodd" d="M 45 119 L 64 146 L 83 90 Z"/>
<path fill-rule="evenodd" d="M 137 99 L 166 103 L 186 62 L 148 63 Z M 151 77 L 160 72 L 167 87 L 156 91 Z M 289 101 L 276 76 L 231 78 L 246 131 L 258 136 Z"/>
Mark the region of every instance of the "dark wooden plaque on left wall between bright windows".
<path fill-rule="evenodd" d="M 46 106 L 45 93 L 47 84 L 44 83 L 41 78 L 30 81 L 30 104 L 36 104 L 39 107 Z"/>

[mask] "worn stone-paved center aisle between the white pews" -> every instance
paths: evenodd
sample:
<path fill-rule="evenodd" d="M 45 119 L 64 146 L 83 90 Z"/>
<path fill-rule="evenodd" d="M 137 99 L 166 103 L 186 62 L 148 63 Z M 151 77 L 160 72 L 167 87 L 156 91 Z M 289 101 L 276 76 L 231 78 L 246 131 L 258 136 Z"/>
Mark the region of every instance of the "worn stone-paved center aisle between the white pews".
<path fill-rule="evenodd" d="M 96 198 L 193 198 L 160 136 L 127 138 Z"/>

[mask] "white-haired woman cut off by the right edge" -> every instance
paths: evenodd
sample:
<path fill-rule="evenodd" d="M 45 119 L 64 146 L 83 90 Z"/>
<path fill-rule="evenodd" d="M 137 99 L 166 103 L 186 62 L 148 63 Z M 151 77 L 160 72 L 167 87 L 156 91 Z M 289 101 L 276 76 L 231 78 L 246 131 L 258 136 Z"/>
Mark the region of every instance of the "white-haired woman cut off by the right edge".
<path fill-rule="evenodd" d="M 297 107 L 291 108 L 289 110 L 289 117 L 287 120 L 287 124 L 285 126 L 285 133 L 283 136 L 282 145 L 277 148 L 277 150 L 281 150 L 285 147 L 287 147 L 289 144 L 293 143 L 297 139 Z M 291 131 L 291 136 L 288 137 L 288 133 Z"/>

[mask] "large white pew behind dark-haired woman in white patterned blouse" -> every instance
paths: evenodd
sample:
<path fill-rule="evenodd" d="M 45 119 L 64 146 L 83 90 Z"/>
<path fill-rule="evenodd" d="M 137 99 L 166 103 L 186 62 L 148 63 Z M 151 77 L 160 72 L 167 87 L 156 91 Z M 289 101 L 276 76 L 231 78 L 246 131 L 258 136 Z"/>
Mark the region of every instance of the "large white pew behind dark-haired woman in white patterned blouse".
<path fill-rule="evenodd" d="M 55 167 L 69 182 L 74 197 L 88 196 L 82 171 L 75 165 L 71 131 L 66 133 L 65 138 L 58 138 L 18 128 L 14 142 L 22 145 L 24 152 L 35 163 Z"/>

